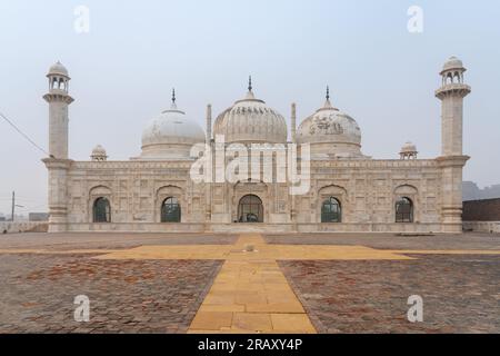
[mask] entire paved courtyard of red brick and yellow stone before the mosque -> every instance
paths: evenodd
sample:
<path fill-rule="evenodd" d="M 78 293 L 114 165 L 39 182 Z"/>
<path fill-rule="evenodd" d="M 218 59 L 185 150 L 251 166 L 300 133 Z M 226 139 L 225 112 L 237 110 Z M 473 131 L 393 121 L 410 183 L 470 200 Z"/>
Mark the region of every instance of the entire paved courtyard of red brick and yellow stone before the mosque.
<path fill-rule="evenodd" d="M 499 285 L 498 235 L 0 237 L 0 333 L 500 333 Z"/>

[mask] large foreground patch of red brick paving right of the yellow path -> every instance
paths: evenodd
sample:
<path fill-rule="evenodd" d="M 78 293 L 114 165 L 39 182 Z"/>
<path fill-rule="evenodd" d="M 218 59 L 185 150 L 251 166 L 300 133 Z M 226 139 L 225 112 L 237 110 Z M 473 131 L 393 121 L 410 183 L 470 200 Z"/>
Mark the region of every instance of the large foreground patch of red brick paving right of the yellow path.
<path fill-rule="evenodd" d="M 413 257 L 280 266 L 319 333 L 500 333 L 499 256 Z M 411 295 L 423 323 L 407 319 Z"/>

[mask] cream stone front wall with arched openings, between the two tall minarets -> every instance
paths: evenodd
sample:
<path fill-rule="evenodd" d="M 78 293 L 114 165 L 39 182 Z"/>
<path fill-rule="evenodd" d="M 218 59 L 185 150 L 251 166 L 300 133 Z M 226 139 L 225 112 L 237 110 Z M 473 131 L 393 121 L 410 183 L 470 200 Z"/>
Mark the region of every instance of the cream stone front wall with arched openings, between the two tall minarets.
<path fill-rule="evenodd" d="M 290 195 L 288 184 L 194 184 L 189 179 L 191 164 L 73 162 L 68 172 L 68 229 L 230 230 L 239 220 L 240 200 L 254 195 L 262 201 L 264 230 L 441 230 L 441 169 L 436 160 L 313 161 L 311 189 L 301 196 Z M 161 206 L 169 197 L 179 201 L 180 224 L 161 222 Z M 321 222 L 322 204 L 330 197 L 341 205 L 340 222 Z M 400 197 L 413 202 L 412 224 L 396 224 Z M 109 200 L 110 222 L 93 222 L 98 198 Z"/>

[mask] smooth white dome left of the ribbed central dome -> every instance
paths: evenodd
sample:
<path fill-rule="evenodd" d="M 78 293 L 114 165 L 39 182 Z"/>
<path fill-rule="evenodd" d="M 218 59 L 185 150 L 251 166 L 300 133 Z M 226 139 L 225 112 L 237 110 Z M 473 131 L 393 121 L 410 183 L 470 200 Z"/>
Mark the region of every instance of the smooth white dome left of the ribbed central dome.
<path fill-rule="evenodd" d="M 204 142 L 203 129 L 178 110 L 174 100 L 170 110 L 152 119 L 142 131 L 141 158 L 189 158 L 191 147 Z"/>

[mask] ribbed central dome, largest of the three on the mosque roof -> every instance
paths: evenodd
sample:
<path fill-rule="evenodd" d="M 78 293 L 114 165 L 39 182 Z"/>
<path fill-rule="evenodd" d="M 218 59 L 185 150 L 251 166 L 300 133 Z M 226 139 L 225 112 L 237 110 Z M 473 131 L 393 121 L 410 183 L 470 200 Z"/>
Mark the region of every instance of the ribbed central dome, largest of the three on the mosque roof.
<path fill-rule="evenodd" d="M 287 122 L 263 100 L 256 99 L 251 81 L 247 97 L 234 102 L 216 119 L 214 135 L 223 135 L 226 142 L 287 142 Z"/>

